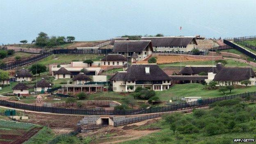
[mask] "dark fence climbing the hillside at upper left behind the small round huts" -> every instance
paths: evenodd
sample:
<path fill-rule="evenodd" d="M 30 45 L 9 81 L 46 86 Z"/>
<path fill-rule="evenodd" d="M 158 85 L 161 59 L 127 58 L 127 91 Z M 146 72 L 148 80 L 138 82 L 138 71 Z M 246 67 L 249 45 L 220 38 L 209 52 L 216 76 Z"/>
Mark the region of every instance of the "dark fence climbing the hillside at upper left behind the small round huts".
<path fill-rule="evenodd" d="M 37 55 L 35 57 L 31 57 L 26 60 L 17 61 L 10 64 L 1 64 L 0 69 L 8 70 L 13 69 L 18 66 L 24 66 L 26 64 L 30 64 L 32 62 L 37 62 L 45 57 L 48 57 L 52 54 L 106 54 L 112 53 L 112 49 L 85 49 L 85 50 L 78 50 L 78 49 L 59 49 L 59 50 L 51 50 L 49 52 L 45 52 L 41 55 Z"/>

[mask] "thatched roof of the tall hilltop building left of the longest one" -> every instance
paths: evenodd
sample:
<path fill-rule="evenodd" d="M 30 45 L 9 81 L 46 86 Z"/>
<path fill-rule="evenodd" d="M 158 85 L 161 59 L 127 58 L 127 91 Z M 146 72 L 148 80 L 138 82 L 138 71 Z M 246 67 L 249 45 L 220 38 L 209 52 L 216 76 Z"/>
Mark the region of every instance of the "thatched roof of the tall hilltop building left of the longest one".
<path fill-rule="evenodd" d="M 113 52 L 142 52 L 147 47 L 153 51 L 151 41 L 115 41 Z"/>

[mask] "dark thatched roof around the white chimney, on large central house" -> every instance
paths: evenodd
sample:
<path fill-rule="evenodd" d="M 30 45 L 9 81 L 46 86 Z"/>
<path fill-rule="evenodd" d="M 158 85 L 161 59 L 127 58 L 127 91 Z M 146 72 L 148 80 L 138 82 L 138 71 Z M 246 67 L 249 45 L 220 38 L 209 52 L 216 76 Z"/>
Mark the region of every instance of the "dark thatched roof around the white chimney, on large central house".
<path fill-rule="evenodd" d="M 146 67 L 149 67 L 149 73 L 146 73 Z M 116 73 L 110 80 L 171 80 L 157 64 L 132 64 L 126 71 Z"/>

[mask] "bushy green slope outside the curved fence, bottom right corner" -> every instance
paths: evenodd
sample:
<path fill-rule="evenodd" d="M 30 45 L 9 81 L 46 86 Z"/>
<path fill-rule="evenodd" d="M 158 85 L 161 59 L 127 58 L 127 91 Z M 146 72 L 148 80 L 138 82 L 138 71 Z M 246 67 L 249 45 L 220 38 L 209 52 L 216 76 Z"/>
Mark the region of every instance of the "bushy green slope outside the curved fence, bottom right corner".
<path fill-rule="evenodd" d="M 161 119 L 148 126 L 140 126 L 136 129 L 146 130 L 148 128 L 161 128 L 159 132 L 141 137 L 136 140 L 121 142 L 120 144 L 237 144 L 233 143 L 234 138 L 242 137 L 255 139 L 256 123 L 254 105 L 241 107 L 243 104 L 213 107 L 210 110 L 197 110 L 194 114 L 170 114 L 169 119 Z M 237 110 L 234 110 L 235 107 Z M 197 114 L 202 115 L 197 115 Z M 252 114 L 245 120 L 236 120 L 234 126 L 229 123 L 238 119 L 238 115 Z M 178 118 L 177 118 L 178 117 Z M 222 121 L 224 120 L 224 121 Z M 176 132 L 173 132 L 171 124 L 176 124 Z M 198 128 L 198 129 L 197 129 Z M 243 130 L 245 128 L 245 130 Z M 239 142 L 240 143 L 240 142 Z M 248 142 L 248 144 L 255 144 Z"/>

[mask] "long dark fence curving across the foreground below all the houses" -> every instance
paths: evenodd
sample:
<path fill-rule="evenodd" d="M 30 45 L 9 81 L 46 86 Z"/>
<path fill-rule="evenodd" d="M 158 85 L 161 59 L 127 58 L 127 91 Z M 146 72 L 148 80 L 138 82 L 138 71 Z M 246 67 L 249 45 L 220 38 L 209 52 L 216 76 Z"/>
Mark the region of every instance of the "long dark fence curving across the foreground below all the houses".
<path fill-rule="evenodd" d="M 246 96 L 256 96 L 256 91 L 243 93 L 243 94 L 236 94 L 231 96 L 203 99 L 200 103 L 198 101 L 193 101 L 189 103 L 179 103 L 176 105 L 169 105 L 165 107 L 152 107 L 148 109 L 139 109 L 139 110 L 89 110 L 89 109 L 80 110 L 80 109 L 59 108 L 59 107 L 40 107 L 40 106 L 27 105 L 27 104 L 21 104 L 21 103 L 14 103 L 14 102 L 4 101 L 4 100 L 0 100 L 0 105 L 23 109 L 23 110 L 31 110 L 31 111 L 37 111 L 37 112 L 51 112 L 51 113 L 59 113 L 59 114 L 133 115 L 133 114 L 149 114 L 149 113 L 158 113 L 158 112 L 177 111 L 182 108 L 193 107 L 198 105 L 208 105 L 216 101 L 222 101 L 222 100 L 238 98 L 238 97 L 245 98 Z"/>

